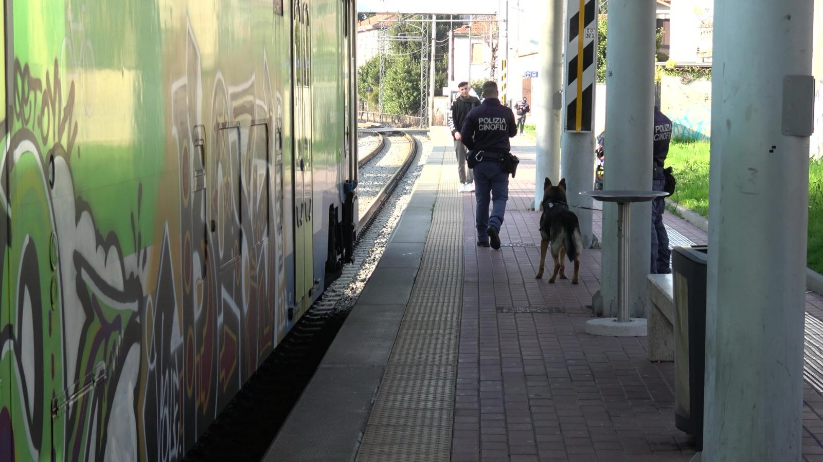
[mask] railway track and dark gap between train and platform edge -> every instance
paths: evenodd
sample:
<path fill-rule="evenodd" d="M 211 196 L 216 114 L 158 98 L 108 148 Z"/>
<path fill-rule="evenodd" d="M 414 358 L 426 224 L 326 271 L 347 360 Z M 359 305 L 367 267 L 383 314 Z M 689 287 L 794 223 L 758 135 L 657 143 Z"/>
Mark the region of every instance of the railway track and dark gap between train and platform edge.
<path fill-rule="evenodd" d="M 358 186 L 358 189 L 361 186 L 371 187 L 377 193 L 374 196 L 369 194 L 367 199 L 370 204 L 360 213 L 354 263 L 343 267 L 342 275 L 300 318 L 198 443 L 188 451 L 184 460 L 257 462 L 262 459 L 277 430 L 286 421 L 300 393 L 314 375 L 337 330 L 383 256 L 388 236 L 397 225 L 428 157 L 428 150 L 425 149 L 428 139 L 425 136 L 412 136 L 406 132 L 385 132 L 381 136 L 383 146 L 374 155 L 370 152 L 370 159 L 360 159 L 358 162 L 366 175 L 372 164 L 382 169 L 388 167 L 376 164 L 396 164 L 389 159 L 391 156 L 402 158 L 402 162 L 395 167 L 388 180 L 374 175 L 374 178 L 365 178 Z M 416 168 L 412 169 L 415 159 L 419 160 Z M 373 181 L 384 183 L 370 184 Z"/>

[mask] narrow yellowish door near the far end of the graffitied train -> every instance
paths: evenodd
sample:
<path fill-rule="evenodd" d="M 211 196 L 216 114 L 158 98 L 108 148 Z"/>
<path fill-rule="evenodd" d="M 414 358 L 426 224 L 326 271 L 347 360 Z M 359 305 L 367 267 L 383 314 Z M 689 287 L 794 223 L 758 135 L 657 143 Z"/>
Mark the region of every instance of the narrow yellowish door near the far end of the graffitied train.
<path fill-rule="evenodd" d="M 309 4 L 295 0 L 291 10 L 292 81 L 294 85 L 294 174 L 295 210 L 295 307 L 298 315 L 311 304 L 314 285 L 312 252 L 312 143 L 311 143 L 311 44 L 309 36 Z"/>

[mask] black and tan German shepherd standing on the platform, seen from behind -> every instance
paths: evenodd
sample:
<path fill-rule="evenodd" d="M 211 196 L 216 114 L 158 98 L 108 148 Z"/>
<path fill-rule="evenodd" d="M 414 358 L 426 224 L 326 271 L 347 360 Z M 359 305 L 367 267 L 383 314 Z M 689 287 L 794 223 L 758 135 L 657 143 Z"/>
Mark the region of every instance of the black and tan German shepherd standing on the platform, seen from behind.
<path fill-rule="evenodd" d="M 577 284 L 580 269 L 579 257 L 583 252 L 583 238 L 580 238 L 577 215 L 569 210 L 569 204 L 566 203 L 565 178 L 561 179 L 557 186 L 552 186 L 551 180 L 546 178 L 546 182 L 543 183 L 543 201 L 540 206 L 543 210 L 543 215 L 540 217 L 540 268 L 535 278 L 539 280 L 543 277 L 546 248 L 551 243 L 551 257 L 555 261 L 555 271 L 551 274 L 549 282 L 555 282 L 558 272 L 560 272 L 561 280 L 566 279 L 563 256 L 569 256 L 569 261 L 574 261 L 574 275 L 571 283 Z"/>

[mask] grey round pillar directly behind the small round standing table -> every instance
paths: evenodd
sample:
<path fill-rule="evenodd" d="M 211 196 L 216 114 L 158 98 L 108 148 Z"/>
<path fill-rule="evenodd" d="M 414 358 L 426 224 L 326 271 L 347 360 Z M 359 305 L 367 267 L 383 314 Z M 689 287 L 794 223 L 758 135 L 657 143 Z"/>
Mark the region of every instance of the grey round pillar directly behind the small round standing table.
<path fill-rule="evenodd" d="M 654 16 L 654 2 L 609 2 L 604 189 L 652 188 Z M 645 317 L 651 204 L 633 204 L 630 222 L 630 316 Z M 606 317 L 617 316 L 617 243 L 617 206 L 606 203 L 600 281 Z"/>

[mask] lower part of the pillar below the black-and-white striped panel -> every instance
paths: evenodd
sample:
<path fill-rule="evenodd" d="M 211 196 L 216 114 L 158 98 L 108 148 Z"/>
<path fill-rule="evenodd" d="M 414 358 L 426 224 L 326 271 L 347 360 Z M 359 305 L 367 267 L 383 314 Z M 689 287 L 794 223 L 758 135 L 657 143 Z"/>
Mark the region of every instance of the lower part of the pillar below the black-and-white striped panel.
<path fill-rule="evenodd" d="M 566 179 L 566 200 L 577 214 L 583 247 L 588 248 L 592 244 L 592 198 L 579 193 L 594 189 L 594 134 L 563 132 L 561 138 L 560 176 Z"/>

